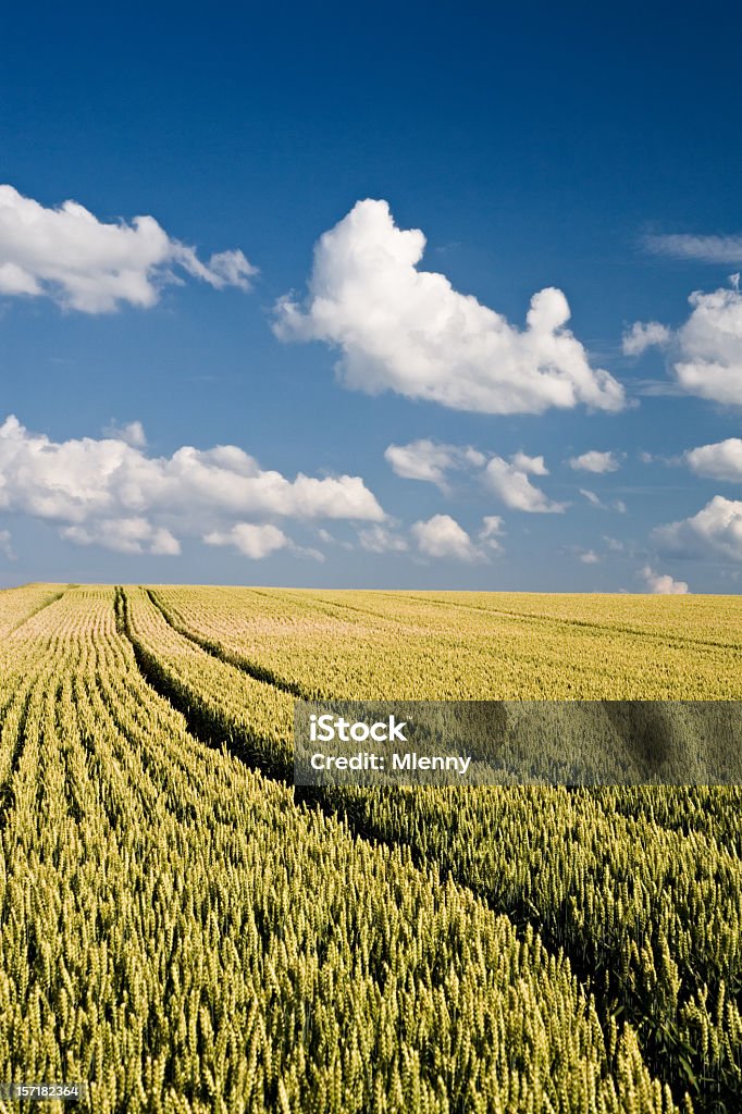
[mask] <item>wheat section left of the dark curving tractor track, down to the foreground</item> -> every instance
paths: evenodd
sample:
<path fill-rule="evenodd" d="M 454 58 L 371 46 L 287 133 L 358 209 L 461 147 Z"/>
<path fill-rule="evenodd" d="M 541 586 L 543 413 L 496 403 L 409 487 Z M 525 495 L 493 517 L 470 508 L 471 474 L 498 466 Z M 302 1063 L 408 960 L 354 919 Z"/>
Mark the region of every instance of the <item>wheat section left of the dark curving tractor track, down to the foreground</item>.
<path fill-rule="evenodd" d="M 71 588 L 0 651 L 6 1078 L 96 1114 L 676 1108 L 537 934 L 193 737 L 123 625 L 202 716 L 244 675 L 126 605 Z"/>

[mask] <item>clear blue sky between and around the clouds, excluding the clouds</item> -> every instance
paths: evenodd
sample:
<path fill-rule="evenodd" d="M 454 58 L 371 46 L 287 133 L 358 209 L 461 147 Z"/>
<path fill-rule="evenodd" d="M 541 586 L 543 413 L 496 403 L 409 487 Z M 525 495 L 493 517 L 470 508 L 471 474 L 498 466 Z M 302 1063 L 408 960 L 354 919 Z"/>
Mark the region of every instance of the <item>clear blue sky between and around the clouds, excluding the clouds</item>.
<path fill-rule="evenodd" d="M 653 526 L 735 489 L 636 459 L 739 436 L 739 412 L 640 394 L 640 380 L 668 381 L 664 359 L 621 353 L 628 323 L 680 324 L 689 294 L 724 285 L 733 270 L 652 256 L 642 240 L 740 231 L 738 10 L 46 7 L 3 17 L 0 180 L 49 206 L 74 198 L 101 221 L 152 214 L 202 256 L 241 247 L 261 274 L 250 294 L 188 282 L 168 286 L 152 310 L 100 316 L 48 299 L 0 300 L 0 420 L 16 413 L 62 440 L 139 419 L 154 453 L 235 443 L 291 477 L 360 475 L 402 528 L 450 514 L 473 534 L 484 514 L 501 514 L 506 553 L 462 566 L 336 547 L 323 565 L 291 554 L 258 564 L 186 540 L 179 557 L 130 556 L 75 547 L 55 524 L 0 514 L 18 555 L 0 557 L 0 584 L 642 590 L 637 569 L 650 563 L 696 590 L 739 590 L 729 563 L 657 558 L 648 541 Z M 535 291 L 564 290 L 593 364 L 640 405 L 613 417 L 582 407 L 458 413 L 350 392 L 335 381 L 336 353 L 279 343 L 275 299 L 301 295 L 318 236 L 363 197 L 385 198 L 400 227 L 422 228 L 427 270 L 515 324 Z M 543 486 L 573 507 L 523 515 L 471 483 L 445 497 L 396 477 L 384 448 L 424 437 L 544 453 L 551 475 Z M 626 453 L 622 470 L 592 477 L 564 463 L 592 448 Z M 580 486 L 624 499 L 627 514 L 596 511 Z M 625 551 L 604 554 L 603 535 Z M 578 549 L 601 550 L 602 560 L 586 566 Z"/>

